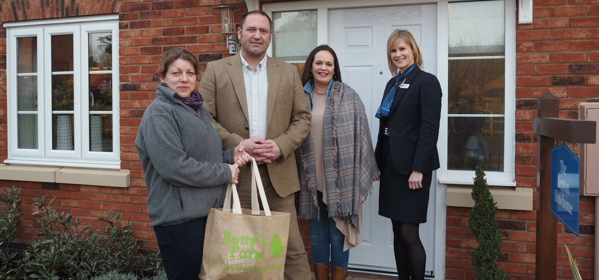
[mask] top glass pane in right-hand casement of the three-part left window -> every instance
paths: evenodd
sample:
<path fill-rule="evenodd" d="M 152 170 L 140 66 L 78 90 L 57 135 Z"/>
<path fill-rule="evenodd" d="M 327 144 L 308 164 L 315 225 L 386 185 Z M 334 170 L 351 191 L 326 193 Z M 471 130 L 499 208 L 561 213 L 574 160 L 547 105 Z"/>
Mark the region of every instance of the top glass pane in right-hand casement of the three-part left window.
<path fill-rule="evenodd" d="M 89 71 L 112 69 L 112 33 L 89 34 Z"/>

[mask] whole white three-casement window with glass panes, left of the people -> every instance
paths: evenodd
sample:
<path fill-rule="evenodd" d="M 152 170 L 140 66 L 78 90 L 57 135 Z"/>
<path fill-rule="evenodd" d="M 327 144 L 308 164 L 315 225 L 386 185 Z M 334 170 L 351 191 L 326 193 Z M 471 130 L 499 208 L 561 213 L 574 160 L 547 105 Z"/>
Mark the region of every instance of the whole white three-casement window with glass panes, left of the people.
<path fill-rule="evenodd" d="M 118 16 L 4 26 L 5 163 L 120 168 Z"/>

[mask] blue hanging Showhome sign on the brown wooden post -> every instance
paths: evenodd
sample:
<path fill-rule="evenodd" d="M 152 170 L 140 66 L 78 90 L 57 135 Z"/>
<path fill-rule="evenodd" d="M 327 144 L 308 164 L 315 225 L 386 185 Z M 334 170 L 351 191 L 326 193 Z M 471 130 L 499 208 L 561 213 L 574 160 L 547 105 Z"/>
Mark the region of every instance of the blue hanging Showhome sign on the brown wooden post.
<path fill-rule="evenodd" d="M 579 235 L 580 160 L 566 144 L 551 150 L 551 212 Z"/>

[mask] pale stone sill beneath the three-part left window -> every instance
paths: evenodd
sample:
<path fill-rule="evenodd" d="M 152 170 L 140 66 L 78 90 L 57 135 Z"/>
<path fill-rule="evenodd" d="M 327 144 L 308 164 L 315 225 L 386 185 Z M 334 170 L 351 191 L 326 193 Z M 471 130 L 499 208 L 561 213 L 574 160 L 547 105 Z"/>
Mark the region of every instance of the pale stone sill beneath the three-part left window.
<path fill-rule="evenodd" d="M 62 168 L 52 166 L 0 165 L 0 179 L 12 181 L 56 182 L 62 184 L 129 187 L 130 172 L 125 169 Z"/>

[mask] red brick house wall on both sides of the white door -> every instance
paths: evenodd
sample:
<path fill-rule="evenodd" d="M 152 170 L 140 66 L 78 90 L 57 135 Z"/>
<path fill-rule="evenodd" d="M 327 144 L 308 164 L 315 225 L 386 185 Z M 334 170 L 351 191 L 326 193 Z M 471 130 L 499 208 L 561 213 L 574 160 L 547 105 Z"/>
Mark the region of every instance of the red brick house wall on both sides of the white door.
<path fill-rule="evenodd" d="M 219 34 L 220 0 L 80 0 L 65 1 L 64 7 L 22 6 L 22 1 L 0 2 L 3 22 L 120 13 L 120 130 L 122 168 L 131 170 L 131 187 L 41 184 L 0 181 L 0 185 L 23 187 L 22 209 L 32 212 L 34 197 L 58 197 L 60 211 L 73 211 L 83 223 L 95 225 L 96 217 L 111 209 L 134 222 L 135 235 L 143 245 L 156 248 L 155 236 L 147 226 L 147 191 L 134 139 L 144 109 L 152 102 L 156 86 L 152 73 L 162 53 L 184 46 L 198 55 L 203 66 L 228 56 L 224 36 Z M 533 25 L 518 25 L 516 181 L 520 187 L 536 187 L 536 139 L 532 133 L 535 101 L 546 91 L 561 98 L 561 117 L 576 118 L 576 106 L 599 101 L 599 5 L 597 0 L 536 0 Z M 29 3 L 29 2 L 28 2 Z M 55 2 L 53 2 L 55 3 Z M 243 0 L 226 1 L 237 6 L 237 20 L 246 11 Z M 54 4 L 52 4 L 54 5 Z M 14 7 L 14 8 L 13 8 Z M 13 12 L 14 10 L 14 12 Z M 73 12 L 75 11 L 75 12 Z M 6 34 L 0 25 L 0 160 L 7 157 L 6 126 Z M 467 227 L 469 208 L 447 208 L 447 279 L 473 279 L 470 252 L 476 246 Z M 585 279 L 592 279 L 594 203 L 583 198 L 581 238 L 565 233 L 560 225 L 558 242 L 571 245 Z M 511 279 L 534 279 L 534 211 L 500 210 L 497 224 L 504 235 L 500 266 Z M 26 215 L 20 241 L 35 235 L 31 215 Z M 310 250 L 305 221 L 300 230 Z M 571 276 L 562 246 L 558 248 L 559 276 Z"/>

